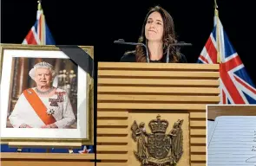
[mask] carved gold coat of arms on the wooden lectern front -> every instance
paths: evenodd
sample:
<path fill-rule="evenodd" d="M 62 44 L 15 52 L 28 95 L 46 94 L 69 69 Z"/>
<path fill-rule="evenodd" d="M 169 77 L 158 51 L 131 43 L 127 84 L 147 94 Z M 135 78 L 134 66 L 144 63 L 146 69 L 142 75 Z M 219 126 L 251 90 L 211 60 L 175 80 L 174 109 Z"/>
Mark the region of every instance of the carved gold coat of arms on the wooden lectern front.
<path fill-rule="evenodd" d="M 182 124 L 183 119 L 178 119 L 166 134 L 169 123 L 160 115 L 148 123 L 152 133 L 146 131 L 145 123 L 134 122 L 131 126 L 132 137 L 137 142 L 134 153 L 142 166 L 174 166 L 179 162 L 183 154 Z"/>

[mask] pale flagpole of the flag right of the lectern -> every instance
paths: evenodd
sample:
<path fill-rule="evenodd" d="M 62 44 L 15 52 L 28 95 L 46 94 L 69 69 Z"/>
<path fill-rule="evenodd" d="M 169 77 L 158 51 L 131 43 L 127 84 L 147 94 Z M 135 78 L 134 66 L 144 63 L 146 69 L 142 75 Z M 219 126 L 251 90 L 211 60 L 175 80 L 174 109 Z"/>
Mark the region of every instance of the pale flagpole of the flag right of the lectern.
<path fill-rule="evenodd" d="M 214 19 L 216 22 L 216 41 L 217 41 L 217 63 L 221 63 L 220 57 L 220 22 L 217 0 L 214 0 Z"/>

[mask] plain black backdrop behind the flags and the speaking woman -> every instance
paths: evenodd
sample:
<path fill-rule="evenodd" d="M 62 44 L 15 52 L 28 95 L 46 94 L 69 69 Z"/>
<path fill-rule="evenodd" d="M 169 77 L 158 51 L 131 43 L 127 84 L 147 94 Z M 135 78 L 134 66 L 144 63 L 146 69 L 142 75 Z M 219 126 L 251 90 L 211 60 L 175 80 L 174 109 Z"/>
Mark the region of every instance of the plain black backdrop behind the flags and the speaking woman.
<path fill-rule="evenodd" d="M 220 21 L 255 84 L 253 1 L 219 0 L 217 3 Z M 213 29 L 214 0 L 42 1 L 56 44 L 94 46 L 95 61 L 119 61 L 126 50 L 134 49 L 113 41 L 119 38 L 137 41 L 148 8 L 156 4 L 174 17 L 179 41 L 193 44 L 181 51 L 189 63 L 196 62 Z M 1 42 L 21 43 L 36 22 L 36 10 L 36 0 L 2 0 Z"/>

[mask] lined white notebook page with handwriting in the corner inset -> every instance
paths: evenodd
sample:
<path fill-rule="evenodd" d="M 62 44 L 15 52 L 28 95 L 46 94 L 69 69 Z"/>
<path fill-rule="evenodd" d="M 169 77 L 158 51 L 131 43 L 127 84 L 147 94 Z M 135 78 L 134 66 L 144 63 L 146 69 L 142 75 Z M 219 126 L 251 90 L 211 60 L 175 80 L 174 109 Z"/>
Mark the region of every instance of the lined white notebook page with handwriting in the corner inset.
<path fill-rule="evenodd" d="M 207 166 L 256 166 L 256 116 L 215 118 L 207 137 Z"/>

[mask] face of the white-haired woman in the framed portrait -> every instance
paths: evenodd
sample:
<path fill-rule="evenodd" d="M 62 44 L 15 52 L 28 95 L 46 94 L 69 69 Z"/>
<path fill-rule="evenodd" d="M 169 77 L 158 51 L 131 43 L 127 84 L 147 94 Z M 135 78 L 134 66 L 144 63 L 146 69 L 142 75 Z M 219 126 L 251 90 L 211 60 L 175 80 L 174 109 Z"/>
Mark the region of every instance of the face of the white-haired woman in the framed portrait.
<path fill-rule="evenodd" d="M 36 85 L 50 86 L 52 74 L 48 68 L 36 68 Z"/>

